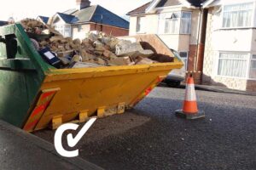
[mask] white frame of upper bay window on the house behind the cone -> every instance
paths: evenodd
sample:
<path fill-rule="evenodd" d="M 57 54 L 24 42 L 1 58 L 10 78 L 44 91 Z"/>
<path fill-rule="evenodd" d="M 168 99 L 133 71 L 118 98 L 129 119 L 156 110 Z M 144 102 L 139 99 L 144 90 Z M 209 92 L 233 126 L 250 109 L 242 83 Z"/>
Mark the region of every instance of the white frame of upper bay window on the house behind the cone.
<path fill-rule="evenodd" d="M 160 17 L 160 14 L 175 14 L 178 13 L 180 16 L 177 18 L 177 31 L 175 32 L 166 32 L 166 20 L 174 20 L 174 19 L 167 19 L 163 20 Z M 189 19 L 189 32 L 182 32 L 181 27 L 182 27 L 182 20 L 186 20 L 182 18 L 183 13 L 189 13 L 190 14 L 190 19 Z M 159 24 L 158 24 L 158 33 L 162 35 L 190 35 L 191 34 L 191 26 L 192 26 L 192 12 L 191 11 L 172 11 L 168 13 L 160 13 L 159 14 Z M 160 21 L 164 22 L 164 24 L 160 23 Z"/>

